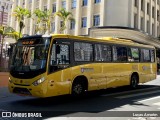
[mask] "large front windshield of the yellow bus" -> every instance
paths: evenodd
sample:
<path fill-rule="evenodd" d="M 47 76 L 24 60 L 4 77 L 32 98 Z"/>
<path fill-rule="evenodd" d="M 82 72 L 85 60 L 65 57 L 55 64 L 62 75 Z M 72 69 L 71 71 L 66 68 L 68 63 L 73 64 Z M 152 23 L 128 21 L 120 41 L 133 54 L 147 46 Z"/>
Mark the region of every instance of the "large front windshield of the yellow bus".
<path fill-rule="evenodd" d="M 20 39 L 11 63 L 11 73 L 26 74 L 46 70 L 50 38 Z"/>

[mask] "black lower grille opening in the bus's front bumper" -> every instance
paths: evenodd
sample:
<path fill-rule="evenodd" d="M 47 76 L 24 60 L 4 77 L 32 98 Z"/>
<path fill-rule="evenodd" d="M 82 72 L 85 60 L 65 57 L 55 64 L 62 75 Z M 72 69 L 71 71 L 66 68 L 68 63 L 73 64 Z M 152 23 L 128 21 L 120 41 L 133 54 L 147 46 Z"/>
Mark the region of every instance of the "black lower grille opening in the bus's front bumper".
<path fill-rule="evenodd" d="M 16 88 L 13 89 L 13 93 L 31 95 L 31 93 L 29 92 L 29 90 L 27 88 L 16 87 Z"/>

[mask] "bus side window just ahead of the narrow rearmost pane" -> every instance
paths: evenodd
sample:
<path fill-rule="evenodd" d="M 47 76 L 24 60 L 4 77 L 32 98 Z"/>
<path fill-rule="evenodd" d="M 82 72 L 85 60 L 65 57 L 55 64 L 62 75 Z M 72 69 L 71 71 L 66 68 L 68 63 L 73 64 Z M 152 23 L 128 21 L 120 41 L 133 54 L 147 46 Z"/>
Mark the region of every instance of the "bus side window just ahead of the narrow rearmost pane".
<path fill-rule="evenodd" d="M 141 49 L 141 61 L 142 62 L 150 62 L 150 50 Z"/>

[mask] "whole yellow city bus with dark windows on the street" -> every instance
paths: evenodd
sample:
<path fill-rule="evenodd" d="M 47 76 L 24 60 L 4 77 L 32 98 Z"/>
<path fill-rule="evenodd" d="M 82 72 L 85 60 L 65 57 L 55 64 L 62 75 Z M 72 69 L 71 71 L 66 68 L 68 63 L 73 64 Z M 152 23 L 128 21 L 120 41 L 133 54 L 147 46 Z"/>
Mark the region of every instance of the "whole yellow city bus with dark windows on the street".
<path fill-rule="evenodd" d="M 119 38 L 37 35 L 18 40 L 9 91 L 35 97 L 115 88 L 156 79 L 155 48 Z"/>

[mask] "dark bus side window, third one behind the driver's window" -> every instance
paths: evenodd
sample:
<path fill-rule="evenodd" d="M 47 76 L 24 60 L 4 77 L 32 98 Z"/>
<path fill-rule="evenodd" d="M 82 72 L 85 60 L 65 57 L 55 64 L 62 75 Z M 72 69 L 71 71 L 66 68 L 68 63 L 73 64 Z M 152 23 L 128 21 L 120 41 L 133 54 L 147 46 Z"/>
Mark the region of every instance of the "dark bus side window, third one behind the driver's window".
<path fill-rule="evenodd" d="M 113 46 L 113 61 L 115 62 L 127 61 L 127 48 Z"/>

